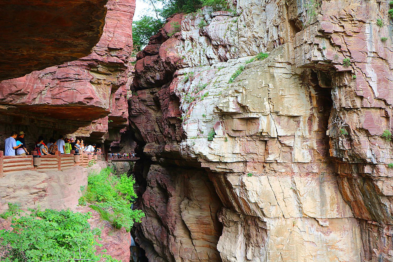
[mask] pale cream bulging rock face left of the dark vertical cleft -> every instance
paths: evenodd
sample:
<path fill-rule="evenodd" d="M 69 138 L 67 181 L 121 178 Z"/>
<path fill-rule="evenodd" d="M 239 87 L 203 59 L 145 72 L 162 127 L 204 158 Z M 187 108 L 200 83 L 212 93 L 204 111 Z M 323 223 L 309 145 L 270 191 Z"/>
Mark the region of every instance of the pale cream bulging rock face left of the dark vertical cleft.
<path fill-rule="evenodd" d="M 213 171 L 230 172 L 213 178 L 225 185 L 220 197 L 230 198 L 235 211 L 220 213 L 223 261 L 361 261 L 359 225 L 321 155 L 329 145 L 318 146 L 330 108 L 325 117 L 318 112 L 320 98 L 292 65 L 291 48 L 285 44 L 263 61 L 230 60 L 222 72 L 219 65 L 204 68 L 191 83 L 178 72 L 179 97 L 203 86 L 199 79 L 207 85 L 194 96 L 208 93 L 181 104 L 187 135 L 181 152 Z M 246 66 L 241 75 L 222 84 L 240 66 Z M 206 138 L 210 130 L 213 141 Z M 264 243 L 255 240 L 263 236 Z"/>

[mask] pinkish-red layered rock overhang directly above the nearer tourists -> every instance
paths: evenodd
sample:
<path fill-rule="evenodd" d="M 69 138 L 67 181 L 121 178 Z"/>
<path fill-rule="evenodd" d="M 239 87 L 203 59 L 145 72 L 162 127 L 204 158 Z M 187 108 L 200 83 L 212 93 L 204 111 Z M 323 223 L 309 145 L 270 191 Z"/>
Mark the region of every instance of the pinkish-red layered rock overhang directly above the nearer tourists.
<path fill-rule="evenodd" d="M 103 33 L 90 55 L 0 82 L 4 136 L 31 129 L 31 135 L 45 134 L 46 139 L 75 132 L 103 141 L 110 137 L 108 130 L 118 133 L 127 126 L 135 1 L 110 0 L 106 7 Z"/>

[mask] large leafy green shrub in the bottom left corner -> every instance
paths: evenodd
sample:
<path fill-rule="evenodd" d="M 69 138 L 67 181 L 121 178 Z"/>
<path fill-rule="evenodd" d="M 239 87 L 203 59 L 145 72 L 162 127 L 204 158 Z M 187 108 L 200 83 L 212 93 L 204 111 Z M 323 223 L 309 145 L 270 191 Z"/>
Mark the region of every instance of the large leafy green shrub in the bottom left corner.
<path fill-rule="evenodd" d="M 30 215 L 13 218 L 12 230 L 0 230 L 2 262 L 118 261 L 97 253 L 97 235 L 88 223 L 89 214 L 70 210 L 30 210 Z"/>

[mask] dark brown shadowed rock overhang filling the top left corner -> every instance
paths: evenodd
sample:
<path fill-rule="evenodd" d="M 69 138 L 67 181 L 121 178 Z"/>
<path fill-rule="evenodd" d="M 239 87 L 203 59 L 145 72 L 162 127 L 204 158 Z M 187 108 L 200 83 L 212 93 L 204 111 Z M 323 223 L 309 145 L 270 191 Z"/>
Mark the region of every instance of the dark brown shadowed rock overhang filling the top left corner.
<path fill-rule="evenodd" d="M 0 3 L 0 81 L 85 57 L 103 33 L 107 0 Z"/>

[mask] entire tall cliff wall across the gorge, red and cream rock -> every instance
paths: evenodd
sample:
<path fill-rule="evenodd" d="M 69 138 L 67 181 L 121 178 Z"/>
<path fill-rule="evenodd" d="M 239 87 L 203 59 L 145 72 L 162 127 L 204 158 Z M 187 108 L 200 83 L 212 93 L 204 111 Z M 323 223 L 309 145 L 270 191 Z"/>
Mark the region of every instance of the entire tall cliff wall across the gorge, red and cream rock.
<path fill-rule="evenodd" d="M 149 261 L 390 261 L 389 3 L 233 8 L 173 16 L 137 56 Z"/>

